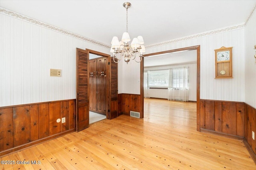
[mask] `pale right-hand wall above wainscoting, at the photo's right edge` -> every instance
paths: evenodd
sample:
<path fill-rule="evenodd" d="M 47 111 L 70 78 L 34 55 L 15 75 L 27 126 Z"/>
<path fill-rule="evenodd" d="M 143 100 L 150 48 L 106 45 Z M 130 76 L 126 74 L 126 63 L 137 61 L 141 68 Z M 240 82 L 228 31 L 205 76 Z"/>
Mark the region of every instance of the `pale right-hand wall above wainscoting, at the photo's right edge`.
<path fill-rule="evenodd" d="M 256 108 L 256 12 L 245 27 L 245 102 Z"/>

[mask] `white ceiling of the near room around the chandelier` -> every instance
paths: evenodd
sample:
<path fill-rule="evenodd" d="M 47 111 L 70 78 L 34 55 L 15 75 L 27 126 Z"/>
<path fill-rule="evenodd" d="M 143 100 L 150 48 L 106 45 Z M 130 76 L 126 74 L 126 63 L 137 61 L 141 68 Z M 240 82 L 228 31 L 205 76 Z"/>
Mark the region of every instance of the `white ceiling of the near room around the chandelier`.
<path fill-rule="evenodd" d="M 126 31 L 126 0 L 0 0 L 0 6 L 110 45 Z M 244 23 L 256 0 L 128 0 L 128 33 L 145 46 Z"/>

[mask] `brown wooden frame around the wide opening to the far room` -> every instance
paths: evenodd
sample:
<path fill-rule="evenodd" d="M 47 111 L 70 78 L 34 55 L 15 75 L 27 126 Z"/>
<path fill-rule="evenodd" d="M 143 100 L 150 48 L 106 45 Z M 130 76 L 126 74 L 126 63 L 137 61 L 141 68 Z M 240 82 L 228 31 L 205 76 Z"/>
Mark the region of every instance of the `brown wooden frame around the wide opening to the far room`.
<path fill-rule="evenodd" d="M 165 53 L 173 53 L 177 51 L 196 50 L 197 51 L 197 80 L 196 80 L 196 130 L 200 131 L 200 45 L 192 47 L 184 47 L 168 51 L 161 51 L 144 55 L 144 57 L 152 55 L 160 55 Z M 140 62 L 140 118 L 144 117 L 144 58 Z"/>

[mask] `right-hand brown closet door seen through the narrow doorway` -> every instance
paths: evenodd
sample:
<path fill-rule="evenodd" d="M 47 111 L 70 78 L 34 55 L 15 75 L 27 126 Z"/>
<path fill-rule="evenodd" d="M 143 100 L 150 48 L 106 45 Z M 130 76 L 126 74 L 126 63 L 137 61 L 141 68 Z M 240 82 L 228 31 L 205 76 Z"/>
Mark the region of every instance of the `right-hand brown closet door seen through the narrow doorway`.
<path fill-rule="evenodd" d="M 107 110 L 107 61 L 107 57 L 97 59 L 97 110 L 104 115 L 106 115 Z"/>

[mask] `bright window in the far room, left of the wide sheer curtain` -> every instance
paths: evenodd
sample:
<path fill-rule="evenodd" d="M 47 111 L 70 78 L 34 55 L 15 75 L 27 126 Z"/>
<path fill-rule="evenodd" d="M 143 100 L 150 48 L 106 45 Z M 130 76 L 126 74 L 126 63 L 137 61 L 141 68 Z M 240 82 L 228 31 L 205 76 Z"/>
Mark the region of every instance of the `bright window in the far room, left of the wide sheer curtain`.
<path fill-rule="evenodd" d="M 169 87 L 169 70 L 148 71 L 149 87 Z"/>

